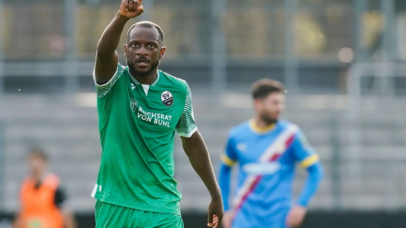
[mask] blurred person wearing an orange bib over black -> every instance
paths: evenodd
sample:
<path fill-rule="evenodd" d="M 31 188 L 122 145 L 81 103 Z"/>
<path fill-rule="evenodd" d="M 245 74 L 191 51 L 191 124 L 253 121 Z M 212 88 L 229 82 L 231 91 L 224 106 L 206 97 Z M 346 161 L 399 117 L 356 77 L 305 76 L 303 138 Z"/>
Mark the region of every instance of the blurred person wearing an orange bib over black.
<path fill-rule="evenodd" d="M 30 174 L 20 189 L 21 206 L 13 228 L 77 227 L 60 179 L 47 171 L 47 163 L 47 155 L 41 148 L 30 150 Z"/>

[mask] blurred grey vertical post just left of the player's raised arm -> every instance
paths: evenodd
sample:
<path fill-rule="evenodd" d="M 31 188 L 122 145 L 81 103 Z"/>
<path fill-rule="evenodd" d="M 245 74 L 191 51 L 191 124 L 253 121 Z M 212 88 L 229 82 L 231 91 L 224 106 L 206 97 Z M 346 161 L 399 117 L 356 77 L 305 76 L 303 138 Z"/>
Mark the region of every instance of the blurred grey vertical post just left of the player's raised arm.
<path fill-rule="evenodd" d="M 75 53 L 75 26 L 76 26 L 76 11 L 78 9 L 78 0 L 65 0 L 65 92 L 73 93 L 78 89 L 78 68 Z"/>

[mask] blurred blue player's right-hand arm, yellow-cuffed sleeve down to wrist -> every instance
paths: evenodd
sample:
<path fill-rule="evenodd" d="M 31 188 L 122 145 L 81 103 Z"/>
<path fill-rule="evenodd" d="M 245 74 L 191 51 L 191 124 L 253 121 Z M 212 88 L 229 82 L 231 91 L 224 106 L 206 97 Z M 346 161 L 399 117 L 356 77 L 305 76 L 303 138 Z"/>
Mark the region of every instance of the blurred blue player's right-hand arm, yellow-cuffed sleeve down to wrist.
<path fill-rule="evenodd" d="M 300 131 L 292 145 L 296 160 L 308 172 L 304 188 L 297 200 L 297 204 L 307 207 L 311 197 L 316 193 L 323 178 L 324 171 L 319 155 L 313 151 L 306 136 Z"/>

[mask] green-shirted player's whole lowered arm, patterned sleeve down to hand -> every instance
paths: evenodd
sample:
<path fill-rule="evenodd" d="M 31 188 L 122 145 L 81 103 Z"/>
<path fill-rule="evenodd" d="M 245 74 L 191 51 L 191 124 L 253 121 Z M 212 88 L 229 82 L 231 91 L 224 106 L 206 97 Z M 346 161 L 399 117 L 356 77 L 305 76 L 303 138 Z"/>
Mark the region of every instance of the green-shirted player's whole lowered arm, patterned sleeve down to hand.
<path fill-rule="evenodd" d="M 197 130 L 197 125 L 194 121 L 192 94 L 189 86 L 187 86 L 185 99 L 184 110 L 176 125 L 176 131 L 181 138 L 182 147 L 189 158 L 190 164 L 206 185 L 210 196 L 212 196 L 208 209 L 209 218 L 207 225 L 217 228 L 220 226 L 224 214 L 221 191 L 214 175 L 206 144 Z"/>

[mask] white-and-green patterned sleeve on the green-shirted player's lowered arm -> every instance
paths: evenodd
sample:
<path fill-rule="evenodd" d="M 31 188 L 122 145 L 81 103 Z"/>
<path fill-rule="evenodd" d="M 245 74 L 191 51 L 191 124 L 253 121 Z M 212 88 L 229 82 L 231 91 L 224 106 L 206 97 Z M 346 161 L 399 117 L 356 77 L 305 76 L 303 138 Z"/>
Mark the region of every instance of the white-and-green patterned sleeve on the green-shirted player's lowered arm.
<path fill-rule="evenodd" d="M 179 136 L 189 138 L 197 131 L 197 125 L 194 121 L 193 107 L 192 107 L 192 92 L 187 86 L 185 107 L 176 125 L 176 132 Z"/>

